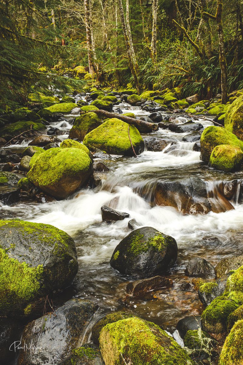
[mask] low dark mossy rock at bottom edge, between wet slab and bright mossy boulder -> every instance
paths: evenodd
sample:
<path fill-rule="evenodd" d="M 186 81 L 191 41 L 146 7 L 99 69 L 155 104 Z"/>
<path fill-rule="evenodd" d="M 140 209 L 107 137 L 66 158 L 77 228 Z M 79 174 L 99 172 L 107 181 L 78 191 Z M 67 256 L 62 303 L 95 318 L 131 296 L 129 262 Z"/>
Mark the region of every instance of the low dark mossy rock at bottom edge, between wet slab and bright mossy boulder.
<path fill-rule="evenodd" d="M 85 343 L 73 350 L 73 354 L 61 365 L 105 365 L 105 363 L 99 347 L 93 343 Z"/>

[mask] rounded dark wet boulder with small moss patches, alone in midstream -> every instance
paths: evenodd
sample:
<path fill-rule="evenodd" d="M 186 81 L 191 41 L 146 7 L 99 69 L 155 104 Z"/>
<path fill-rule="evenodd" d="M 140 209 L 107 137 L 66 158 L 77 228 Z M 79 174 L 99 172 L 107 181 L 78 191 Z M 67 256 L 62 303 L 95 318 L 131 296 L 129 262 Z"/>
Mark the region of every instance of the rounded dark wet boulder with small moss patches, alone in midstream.
<path fill-rule="evenodd" d="M 177 243 L 174 238 L 152 227 L 132 231 L 115 248 L 110 265 L 121 274 L 134 278 L 163 274 L 175 264 Z"/>

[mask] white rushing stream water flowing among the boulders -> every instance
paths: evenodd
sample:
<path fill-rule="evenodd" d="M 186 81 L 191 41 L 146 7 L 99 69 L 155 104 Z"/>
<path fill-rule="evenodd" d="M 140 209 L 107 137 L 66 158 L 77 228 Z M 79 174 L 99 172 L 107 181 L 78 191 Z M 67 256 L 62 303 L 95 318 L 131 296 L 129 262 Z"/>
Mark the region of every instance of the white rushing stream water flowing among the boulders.
<path fill-rule="evenodd" d="M 123 112 L 132 110 L 137 116 L 149 114 L 128 104 L 120 104 L 119 107 Z M 78 114 L 78 110 L 75 113 Z M 63 131 L 60 139 L 68 138 L 74 116 L 71 114 L 61 122 L 52 123 Z M 199 121 L 204 127 L 212 124 L 203 119 Z M 219 194 L 221 181 L 242 179 L 243 176 L 241 172 L 233 176 L 208 168 L 200 161 L 200 153 L 193 151 L 194 143 L 182 141 L 185 133 L 160 129 L 154 135 L 173 138 L 176 144 L 173 149 L 169 145 L 161 152 L 144 151 L 137 158 L 112 156 L 102 160 L 111 170 L 102 184 L 93 190 L 81 190 L 66 200 L 44 204 L 20 202 L 0 209 L 4 217 L 53 224 L 74 238 L 79 272 L 73 293 L 99 305 L 94 321 L 110 311 L 132 311 L 172 333 L 180 318 L 201 314 L 203 309 L 193 285 L 187 291 L 180 288 L 184 281 L 191 283 L 191 278 L 184 274 L 188 260 L 203 257 L 216 265 L 224 257 L 242 254 L 243 204 L 238 203 L 237 196 L 232 201 L 234 210 L 182 215 L 175 208 L 152 204 L 154 186 L 161 180 L 200 177 L 207 181 L 214 204 L 220 206 L 223 204 Z M 24 141 L 21 147 L 27 144 L 28 141 Z M 102 222 L 102 205 L 127 212 L 130 218 L 113 223 Z M 109 260 L 117 244 L 130 232 L 130 219 L 136 219 L 139 227 L 154 227 L 176 239 L 179 249 L 177 263 L 166 273 L 174 281 L 171 289 L 146 293 L 142 299 L 126 296 L 129 278 L 112 269 Z M 209 237 L 217 240 L 212 241 Z M 83 341 L 89 339 L 90 330 L 91 325 Z"/>

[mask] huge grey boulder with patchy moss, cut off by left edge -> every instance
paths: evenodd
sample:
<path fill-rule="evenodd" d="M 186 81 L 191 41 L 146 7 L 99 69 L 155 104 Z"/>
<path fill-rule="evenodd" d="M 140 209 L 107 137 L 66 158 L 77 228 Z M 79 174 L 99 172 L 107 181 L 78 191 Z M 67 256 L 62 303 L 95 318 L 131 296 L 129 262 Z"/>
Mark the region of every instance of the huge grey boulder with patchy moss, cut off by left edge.
<path fill-rule="evenodd" d="M 30 315 L 31 303 L 70 285 L 77 271 L 67 233 L 49 224 L 0 220 L 1 315 Z"/>

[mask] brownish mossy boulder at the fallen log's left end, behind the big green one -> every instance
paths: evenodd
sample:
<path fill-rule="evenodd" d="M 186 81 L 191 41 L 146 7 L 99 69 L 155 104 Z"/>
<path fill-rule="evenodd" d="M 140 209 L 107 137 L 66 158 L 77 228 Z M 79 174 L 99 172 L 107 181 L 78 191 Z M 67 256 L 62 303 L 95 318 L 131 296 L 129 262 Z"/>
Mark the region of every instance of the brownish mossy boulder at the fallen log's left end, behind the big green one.
<path fill-rule="evenodd" d="M 102 124 L 102 120 L 94 112 L 89 112 L 75 118 L 69 132 L 69 138 L 77 138 L 83 141 L 85 135 Z"/>

